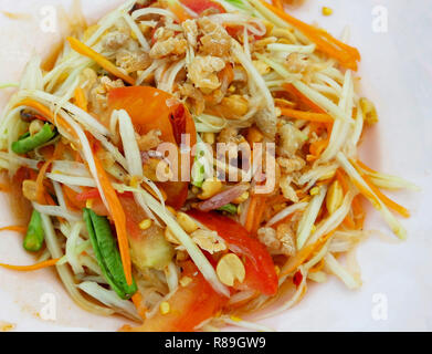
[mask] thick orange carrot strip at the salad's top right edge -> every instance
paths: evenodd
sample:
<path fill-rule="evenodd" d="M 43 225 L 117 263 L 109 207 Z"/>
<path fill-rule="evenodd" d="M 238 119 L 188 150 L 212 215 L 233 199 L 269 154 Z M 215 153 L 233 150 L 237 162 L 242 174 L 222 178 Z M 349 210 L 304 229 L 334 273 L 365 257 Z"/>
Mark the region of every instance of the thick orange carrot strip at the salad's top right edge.
<path fill-rule="evenodd" d="M 276 15 L 278 15 L 281 19 L 285 20 L 286 22 L 302 31 L 310 41 L 316 43 L 318 50 L 320 50 L 323 53 L 336 59 L 347 69 L 357 71 L 357 61 L 360 60 L 360 53 L 356 48 L 352 48 L 348 44 L 343 43 L 341 41 L 338 41 L 326 31 L 309 25 L 285 13 L 283 10 L 271 6 L 264 0 L 260 0 L 260 2 L 268 10 L 274 12 Z"/>

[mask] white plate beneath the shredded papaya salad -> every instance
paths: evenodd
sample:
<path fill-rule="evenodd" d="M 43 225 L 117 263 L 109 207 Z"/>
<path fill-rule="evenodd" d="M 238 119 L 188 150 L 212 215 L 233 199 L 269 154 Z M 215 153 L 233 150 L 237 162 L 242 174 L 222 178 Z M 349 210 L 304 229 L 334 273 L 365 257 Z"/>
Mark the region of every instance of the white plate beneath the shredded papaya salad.
<path fill-rule="evenodd" d="M 0 13 L 0 83 L 17 82 L 32 51 L 50 52 L 60 32 L 43 32 L 43 19 L 51 3 L 64 0 L 2 0 L 2 11 L 21 12 L 31 18 L 10 20 Z M 85 14 L 96 20 L 122 1 L 83 1 Z M 414 4 L 415 3 L 415 4 Z M 377 6 L 381 8 L 377 8 Z M 329 6 L 331 17 L 320 9 Z M 377 33 L 377 15 L 388 14 L 388 31 Z M 46 12 L 48 11 L 48 12 Z M 369 131 L 361 157 L 369 165 L 403 176 L 422 188 L 421 192 L 391 194 L 412 211 L 402 220 L 409 232 L 405 242 L 391 242 L 373 236 L 358 251 L 363 287 L 351 292 L 337 279 L 310 285 L 294 309 L 263 323 L 278 331 L 431 331 L 432 330 L 432 2 L 418 0 L 308 0 L 293 11 L 307 21 L 316 21 L 335 35 L 350 27 L 351 44 L 362 54 L 360 65 L 362 94 L 373 100 L 380 123 Z M 381 23 L 382 24 L 382 23 Z M 0 93 L 3 107 L 12 93 Z M 11 220 L 4 200 L 0 200 L 0 227 Z M 369 212 L 367 226 L 388 235 L 379 216 Z M 0 261 L 31 263 L 32 258 L 13 233 L 0 237 Z M 45 294 L 45 295 L 44 295 Z M 46 295 L 49 294 L 49 295 Z M 44 321 L 43 302 L 56 299 L 56 321 Z M 45 298 L 44 298 L 45 296 Z M 0 269 L 1 321 L 21 331 L 114 331 L 125 321 L 91 315 L 66 295 L 51 270 L 17 273 Z M 384 311 L 387 309 L 387 312 Z M 384 312 L 382 312 L 384 311 Z M 383 316 L 387 314 L 387 316 Z M 383 319 L 386 317 L 386 319 Z"/>

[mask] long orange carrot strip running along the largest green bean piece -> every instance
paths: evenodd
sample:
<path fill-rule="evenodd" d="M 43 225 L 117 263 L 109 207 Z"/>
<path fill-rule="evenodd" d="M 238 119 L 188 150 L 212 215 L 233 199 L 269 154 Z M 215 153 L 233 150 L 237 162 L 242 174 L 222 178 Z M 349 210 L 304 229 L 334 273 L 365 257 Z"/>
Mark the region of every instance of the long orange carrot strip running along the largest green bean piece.
<path fill-rule="evenodd" d="M 130 285 L 133 283 L 131 262 L 130 262 L 130 254 L 129 254 L 129 243 L 128 243 L 127 231 L 126 231 L 125 210 L 123 209 L 122 204 L 118 200 L 117 194 L 114 190 L 109 181 L 109 178 L 106 175 L 105 169 L 97 157 L 97 154 L 93 154 L 93 158 L 96 165 L 97 177 L 104 190 L 104 195 L 108 204 L 109 214 L 114 220 L 114 225 L 117 231 L 118 248 L 120 250 L 122 263 L 123 263 L 123 269 L 125 271 L 126 281 Z"/>

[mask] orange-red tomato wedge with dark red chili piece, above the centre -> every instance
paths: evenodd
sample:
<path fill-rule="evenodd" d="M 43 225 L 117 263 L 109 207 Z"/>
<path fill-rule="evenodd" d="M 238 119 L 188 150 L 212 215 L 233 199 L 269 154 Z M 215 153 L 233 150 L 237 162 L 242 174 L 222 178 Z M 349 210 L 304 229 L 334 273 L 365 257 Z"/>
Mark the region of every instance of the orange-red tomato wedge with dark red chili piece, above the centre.
<path fill-rule="evenodd" d="M 145 86 L 115 88 L 109 92 L 108 105 L 110 111 L 125 110 L 138 134 L 159 129 L 161 139 L 176 144 L 177 148 L 181 144 L 181 135 L 188 134 L 189 147 L 192 148 L 197 144 L 197 131 L 188 108 L 182 103 L 176 103 L 167 92 Z M 188 196 L 188 183 L 168 181 L 158 185 L 167 194 L 167 205 L 176 209 L 183 206 Z"/>

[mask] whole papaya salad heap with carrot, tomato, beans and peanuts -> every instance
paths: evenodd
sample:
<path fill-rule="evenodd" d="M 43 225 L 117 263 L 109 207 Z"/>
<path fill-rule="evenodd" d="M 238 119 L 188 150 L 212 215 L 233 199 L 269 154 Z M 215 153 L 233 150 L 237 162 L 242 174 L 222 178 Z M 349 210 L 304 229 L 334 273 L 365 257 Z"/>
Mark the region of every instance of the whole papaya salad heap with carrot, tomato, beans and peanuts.
<path fill-rule="evenodd" d="M 6 229 L 35 263 L 1 266 L 54 267 L 123 331 L 266 330 L 313 282 L 358 289 L 366 204 L 404 239 L 382 189 L 415 187 L 358 159 L 378 116 L 348 32 L 281 3 L 124 1 L 33 56 L 0 168 L 27 220 Z"/>

